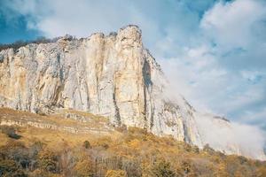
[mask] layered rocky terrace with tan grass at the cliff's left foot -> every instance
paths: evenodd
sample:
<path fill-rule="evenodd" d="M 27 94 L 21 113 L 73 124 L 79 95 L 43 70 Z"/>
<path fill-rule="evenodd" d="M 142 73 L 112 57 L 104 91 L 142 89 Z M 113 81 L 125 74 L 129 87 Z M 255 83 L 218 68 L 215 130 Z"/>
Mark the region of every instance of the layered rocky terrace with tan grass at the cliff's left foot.
<path fill-rule="evenodd" d="M 114 130 L 103 117 L 65 110 L 49 116 L 40 116 L 0 108 L 0 126 L 36 127 L 72 134 L 96 133 L 98 135 L 112 134 Z"/>

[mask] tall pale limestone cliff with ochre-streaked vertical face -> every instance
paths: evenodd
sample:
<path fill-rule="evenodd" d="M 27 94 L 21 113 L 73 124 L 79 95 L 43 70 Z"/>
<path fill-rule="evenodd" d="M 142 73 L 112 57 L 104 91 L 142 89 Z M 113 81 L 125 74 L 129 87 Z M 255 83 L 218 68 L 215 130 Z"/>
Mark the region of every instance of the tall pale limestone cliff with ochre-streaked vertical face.
<path fill-rule="evenodd" d="M 178 90 L 170 89 L 137 26 L 110 35 L 66 35 L 57 42 L 1 50 L 0 78 L 3 107 L 38 114 L 91 112 L 115 127 L 145 128 L 200 148 L 208 143 L 228 154 L 265 158 L 262 147 L 246 149 L 239 142 L 211 140 L 210 135 L 219 139 L 221 134 L 208 131 L 209 126 L 233 135 L 231 123 L 197 112 Z"/>

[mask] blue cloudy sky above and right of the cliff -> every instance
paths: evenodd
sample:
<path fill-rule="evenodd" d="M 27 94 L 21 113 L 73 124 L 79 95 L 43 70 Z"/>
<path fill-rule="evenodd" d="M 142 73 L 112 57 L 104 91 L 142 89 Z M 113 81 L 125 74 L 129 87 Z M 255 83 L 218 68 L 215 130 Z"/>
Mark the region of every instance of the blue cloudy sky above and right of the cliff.
<path fill-rule="evenodd" d="M 266 129 L 266 0 L 0 0 L 0 43 L 142 29 L 197 110 Z"/>

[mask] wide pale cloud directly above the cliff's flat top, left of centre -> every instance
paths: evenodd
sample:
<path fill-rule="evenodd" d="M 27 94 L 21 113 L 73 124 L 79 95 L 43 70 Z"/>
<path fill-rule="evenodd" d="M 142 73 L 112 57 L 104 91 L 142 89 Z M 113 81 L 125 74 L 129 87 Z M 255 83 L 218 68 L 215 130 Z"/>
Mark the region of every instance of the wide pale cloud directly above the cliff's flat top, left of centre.
<path fill-rule="evenodd" d="M 122 1 L 112 4 L 112 1 L 19 0 L 6 1 L 5 4 L 11 12 L 27 16 L 28 27 L 36 28 L 49 37 L 66 34 L 80 37 L 98 31 L 110 32 L 123 26 L 124 19 L 129 18 L 131 12 L 130 5 L 121 8 L 121 11 L 113 11 Z"/>

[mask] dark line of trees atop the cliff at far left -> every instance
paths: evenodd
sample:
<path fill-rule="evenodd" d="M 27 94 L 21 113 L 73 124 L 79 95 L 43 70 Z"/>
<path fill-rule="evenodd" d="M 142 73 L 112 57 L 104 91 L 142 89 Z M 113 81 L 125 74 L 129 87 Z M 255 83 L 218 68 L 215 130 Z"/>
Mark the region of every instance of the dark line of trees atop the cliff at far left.
<path fill-rule="evenodd" d="M 59 37 L 56 38 L 46 38 L 46 37 L 38 37 L 37 39 L 33 40 L 33 41 L 23 41 L 23 40 L 19 40 L 17 42 L 13 42 L 13 43 L 8 43 L 8 44 L 0 44 L 0 51 L 1 50 L 6 50 L 9 48 L 13 48 L 14 50 L 18 50 L 20 47 L 26 46 L 29 43 L 50 43 L 50 42 L 57 42 L 59 40 Z"/>

